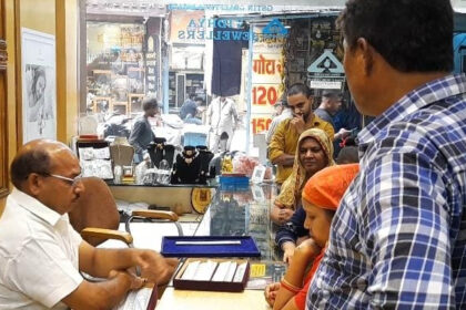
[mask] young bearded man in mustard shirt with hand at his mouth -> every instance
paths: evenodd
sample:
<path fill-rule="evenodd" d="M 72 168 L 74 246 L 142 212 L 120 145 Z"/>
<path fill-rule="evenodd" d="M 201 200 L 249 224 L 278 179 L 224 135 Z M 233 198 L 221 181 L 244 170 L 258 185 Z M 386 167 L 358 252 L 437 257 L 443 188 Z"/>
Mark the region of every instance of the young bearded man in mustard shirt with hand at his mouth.
<path fill-rule="evenodd" d="M 333 140 L 332 124 L 322 121 L 312 112 L 313 96 L 310 87 L 303 83 L 290 86 L 286 93 L 287 105 L 293 118 L 278 124 L 269 145 L 269 159 L 277 165 L 275 182 L 282 184 L 291 175 L 300 135 L 310 128 L 323 130 Z"/>

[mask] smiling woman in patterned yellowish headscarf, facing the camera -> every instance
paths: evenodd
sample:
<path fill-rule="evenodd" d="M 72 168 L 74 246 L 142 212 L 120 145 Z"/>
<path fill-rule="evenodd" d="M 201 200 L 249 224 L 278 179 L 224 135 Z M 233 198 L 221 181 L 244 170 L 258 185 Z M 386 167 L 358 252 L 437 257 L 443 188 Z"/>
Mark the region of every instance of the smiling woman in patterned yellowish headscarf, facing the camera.
<path fill-rule="evenodd" d="M 306 180 L 316 172 L 334 165 L 333 144 L 328 135 L 318 128 L 303 132 L 297 141 L 292 174 L 283 183 L 271 210 L 271 219 L 283 225 L 290 220 L 301 204 L 301 192 Z"/>

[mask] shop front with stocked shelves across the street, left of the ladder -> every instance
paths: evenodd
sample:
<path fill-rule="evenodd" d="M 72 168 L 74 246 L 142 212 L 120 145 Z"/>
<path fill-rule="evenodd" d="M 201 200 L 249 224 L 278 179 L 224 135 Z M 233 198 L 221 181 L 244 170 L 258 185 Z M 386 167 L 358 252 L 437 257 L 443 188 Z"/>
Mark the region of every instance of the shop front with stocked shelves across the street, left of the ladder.
<path fill-rule="evenodd" d="M 140 113 L 145 93 L 143 40 L 135 23 L 87 23 L 87 111 Z"/>

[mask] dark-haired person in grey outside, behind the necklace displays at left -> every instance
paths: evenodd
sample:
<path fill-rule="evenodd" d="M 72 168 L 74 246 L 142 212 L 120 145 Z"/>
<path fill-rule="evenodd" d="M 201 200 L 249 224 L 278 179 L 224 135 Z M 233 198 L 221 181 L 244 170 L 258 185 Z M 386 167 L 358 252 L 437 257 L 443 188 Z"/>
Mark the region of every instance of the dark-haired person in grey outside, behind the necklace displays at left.
<path fill-rule="evenodd" d="M 144 99 L 142 110 L 144 114 L 135 120 L 129 138 L 130 144 L 134 147 L 134 164 L 142 162 L 149 144 L 155 138 L 149 117 L 154 117 L 159 113 L 156 99 Z"/>

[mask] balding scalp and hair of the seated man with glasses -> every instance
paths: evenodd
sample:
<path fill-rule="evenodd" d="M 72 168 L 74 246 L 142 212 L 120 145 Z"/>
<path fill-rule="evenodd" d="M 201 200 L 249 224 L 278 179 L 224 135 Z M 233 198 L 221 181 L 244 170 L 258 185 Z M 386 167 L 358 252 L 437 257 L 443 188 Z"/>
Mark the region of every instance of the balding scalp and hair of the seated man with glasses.
<path fill-rule="evenodd" d="M 50 173 L 54 159 L 63 152 L 71 155 L 71 149 L 57 141 L 34 140 L 24 144 L 11 163 L 11 182 L 17 188 L 22 189 L 22 184 L 31 173 Z"/>

